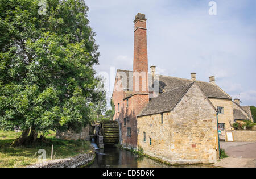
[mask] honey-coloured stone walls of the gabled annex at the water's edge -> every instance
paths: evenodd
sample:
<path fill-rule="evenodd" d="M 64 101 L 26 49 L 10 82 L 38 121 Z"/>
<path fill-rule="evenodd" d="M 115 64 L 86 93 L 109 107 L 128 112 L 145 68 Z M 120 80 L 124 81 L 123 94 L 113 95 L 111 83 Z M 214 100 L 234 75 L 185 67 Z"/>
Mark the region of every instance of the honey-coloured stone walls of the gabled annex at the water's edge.
<path fill-rule="evenodd" d="M 138 117 L 138 149 L 170 164 L 217 161 L 216 113 L 197 85 L 192 85 L 174 110 L 163 113 L 163 118 L 161 123 L 160 114 Z"/>

